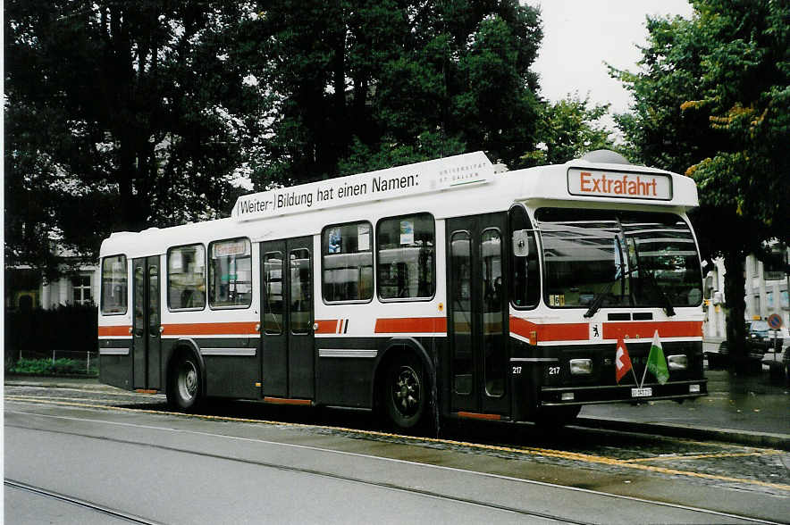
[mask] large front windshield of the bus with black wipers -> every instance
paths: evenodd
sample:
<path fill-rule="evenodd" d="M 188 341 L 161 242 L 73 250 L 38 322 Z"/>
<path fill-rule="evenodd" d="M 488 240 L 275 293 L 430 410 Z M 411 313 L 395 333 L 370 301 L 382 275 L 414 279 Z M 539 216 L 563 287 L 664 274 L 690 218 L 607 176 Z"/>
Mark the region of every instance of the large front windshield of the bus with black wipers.
<path fill-rule="evenodd" d="M 552 307 L 699 306 L 692 231 L 674 213 L 542 208 L 545 301 Z M 593 307 L 594 309 L 594 307 Z"/>

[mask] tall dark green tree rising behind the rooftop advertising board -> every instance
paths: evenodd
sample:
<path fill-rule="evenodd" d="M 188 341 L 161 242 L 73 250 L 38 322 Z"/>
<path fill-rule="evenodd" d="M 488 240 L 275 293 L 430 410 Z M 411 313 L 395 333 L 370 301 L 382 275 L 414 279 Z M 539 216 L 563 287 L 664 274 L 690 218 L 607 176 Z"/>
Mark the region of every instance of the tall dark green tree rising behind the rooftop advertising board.
<path fill-rule="evenodd" d="M 517 164 L 534 146 L 529 68 L 542 32 L 533 8 L 275 0 L 247 25 L 239 48 L 276 106 L 256 163 L 259 187 L 459 150 Z"/>

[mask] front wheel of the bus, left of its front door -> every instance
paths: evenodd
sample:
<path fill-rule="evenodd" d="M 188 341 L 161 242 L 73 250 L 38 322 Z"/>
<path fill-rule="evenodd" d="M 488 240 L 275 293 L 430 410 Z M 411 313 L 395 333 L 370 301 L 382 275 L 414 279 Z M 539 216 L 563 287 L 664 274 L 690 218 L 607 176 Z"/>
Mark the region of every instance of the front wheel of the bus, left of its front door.
<path fill-rule="evenodd" d="M 414 354 L 400 354 L 387 366 L 382 400 L 397 429 L 413 429 L 426 412 L 428 394 L 423 363 Z"/>

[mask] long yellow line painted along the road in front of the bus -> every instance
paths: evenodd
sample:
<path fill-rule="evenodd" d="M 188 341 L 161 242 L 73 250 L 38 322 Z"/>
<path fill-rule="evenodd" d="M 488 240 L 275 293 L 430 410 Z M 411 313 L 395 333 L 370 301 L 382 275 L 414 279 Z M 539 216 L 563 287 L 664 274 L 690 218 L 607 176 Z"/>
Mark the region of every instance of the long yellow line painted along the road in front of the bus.
<path fill-rule="evenodd" d="M 635 469 L 638 471 L 650 471 L 650 472 L 659 472 L 661 474 L 668 474 L 670 476 L 688 476 L 691 478 L 701 478 L 701 479 L 713 479 L 717 481 L 727 481 L 730 483 L 745 483 L 748 485 L 757 485 L 760 487 L 770 487 L 770 488 L 777 488 L 779 490 L 786 490 L 790 491 L 790 485 L 785 485 L 782 483 L 769 483 L 767 481 L 761 481 L 759 479 L 744 479 L 744 478 L 733 478 L 731 476 L 720 476 L 718 474 L 708 474 L 706 472 L 694 472 L 694 471 L 680 471 L 677 469 L 668 469 L 666 467 L 657 467 L 655 465 L 644 465 L 639 462 L 634 462 L 635 460 L 618 460 L 615 458 L 600 456 L 600 455 L 593 455 L 593 454 L 581 454 L 576 452 L 566 452 L 561 450 L 551 450 L 548 448 L 538 448 L 538 447 L 525 447 L 525 448 L 516 448 L 513 446 L 497 446 L 497 445 L 484 445 L 479 443 L 470 443 L 466 441 L 456 441 L 454 439 L 440 439 L 438 437 L 415 437 L 415 436 L 403 436 L 400 434 L 394 434 L 391 432 L 381 432 L 379 430 L 362 430 L 362 429 L 349 429 L 345 427 L 330 427 L 326 425 L 310 425 L 307 423 L 290 423 L 290 422 L 283 422 L 283 421 L 266 421 L 266 420 L 250 420 L 246 418 L 233 418 L 233 417 L 226 417 L 226 416 L 214 416 L 214 415 L 202 415 L 202 414 L 185 414 L 183 412 L 168 412 L 168 411 L 161 411 L 161 410 L 147 410 L 147 409 L 138 409 L 138 408 L 124 408 L 119 406 L 109 406 L 105 404 L 88 404 L 88 403 L 71 403 L 71 402 L 61 402 L 61 401 L 53 401 L 53 400 L 42 400 L 38 397 L 28 397 L 28 396 L 5 396 L 6 399 L 10 399 L 12 401 L 24 401 L 30 403 L 38 403 L 38 404 L 57 404 L 62 406 L 75 406 L 80 408 L 95 408 L 99 410 L 106 410 L 106 411 L 117 411 L 117 412 L 139 412 L 139 413 L 152 413 L 152 414 L 165 414 L 165 415 L 174 415 L 180 417 L 191 417 L 191 418 L 198 418 L 204 420 L 214 420 L 214 421 L 236 421 L 236 422 L 243 422 L 243 423 L 255 423 L 255 424 L 265 424 L 265 425 L 272 425 L 272 426 L 281 426 L 281 427 L 293 427 L 293 428 L 309 428 L 309 429 L 330 429 L 335 431 L 342 431 L 342 432 L 349 432 L 363 436 L 375 436 L 375 437 L 397 437 L 400 439 L 408 439 L 411 441 L 420 441 L 424 443 L 440 443 L 444 445 L 455 445 L 455 446 L 465 446 L 467 448 L 474 448 L 477 450 L 486 450 L 486 451 L 494 451 L 494 452 L 508 452 L 512 454 L 526 454 L 526 455 L 535 455 L 535 456 L 545 456 L 545 457 L 553 457 L 558 459 L 567 459 L 567 460 L 574 460 L 578 462 L 590 462 L 590 463 L 598 463 L 616 467 L 626 467 L 628 469 Z M 772 449 L 764 449 L 766 453 L 770 454 L 783 454 L 781 451 L 775 451 Z M 676 458 L 677 459 L 677 458 Z"/>

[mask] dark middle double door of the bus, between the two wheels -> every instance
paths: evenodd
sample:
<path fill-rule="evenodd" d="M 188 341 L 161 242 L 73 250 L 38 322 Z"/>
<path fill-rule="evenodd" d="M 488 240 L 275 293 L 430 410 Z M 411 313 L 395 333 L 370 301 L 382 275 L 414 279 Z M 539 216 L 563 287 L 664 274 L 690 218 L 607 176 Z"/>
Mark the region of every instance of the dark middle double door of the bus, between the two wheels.
<path fill-rule="evenodd" d="M 264 396 L 313 399 L 313 237 L 261 243 Z"/>

